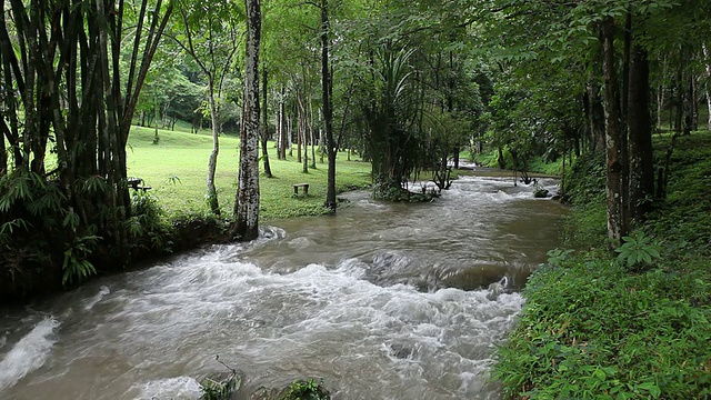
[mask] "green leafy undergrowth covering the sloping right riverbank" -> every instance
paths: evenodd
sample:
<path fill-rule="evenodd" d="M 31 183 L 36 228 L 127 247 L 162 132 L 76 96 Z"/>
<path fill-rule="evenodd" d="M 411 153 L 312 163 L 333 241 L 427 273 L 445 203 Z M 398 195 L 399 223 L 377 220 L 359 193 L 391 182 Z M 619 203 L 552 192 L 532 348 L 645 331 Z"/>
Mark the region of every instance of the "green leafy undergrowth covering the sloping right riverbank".
<path fill-rule="evenodd" d="M 611 254 L 603 157 L 578 160 L 565 244 L 529 281 L 494 376 L 509 398 L 711 396 L 711 133 L 673 139 L 668 197 Z M 654 140 L 663 162 L 672 136 Z"/>

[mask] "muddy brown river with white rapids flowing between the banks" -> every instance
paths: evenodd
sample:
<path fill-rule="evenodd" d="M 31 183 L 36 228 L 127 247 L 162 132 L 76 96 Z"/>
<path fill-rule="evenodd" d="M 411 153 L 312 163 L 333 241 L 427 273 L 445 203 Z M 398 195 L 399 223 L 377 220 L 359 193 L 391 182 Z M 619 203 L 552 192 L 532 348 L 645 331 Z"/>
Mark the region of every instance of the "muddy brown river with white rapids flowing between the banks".
<path fill-rule="evenodd" d="M 197 399 L 218 354 L 242 399 L 302 377 L 336 399 L 498 399 L 492 351 L 565 212 L 531 193 L 497 178 L 425 204 L 347 193 L 336 217 L 0 311 L 0 399 Z"/>

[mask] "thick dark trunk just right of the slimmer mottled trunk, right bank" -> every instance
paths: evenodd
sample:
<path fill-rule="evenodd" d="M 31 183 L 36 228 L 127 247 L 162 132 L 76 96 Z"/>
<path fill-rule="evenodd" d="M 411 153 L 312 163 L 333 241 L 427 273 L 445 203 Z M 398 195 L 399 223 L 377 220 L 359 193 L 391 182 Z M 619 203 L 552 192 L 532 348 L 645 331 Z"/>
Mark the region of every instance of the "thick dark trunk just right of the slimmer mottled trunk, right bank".
<path fill-rule="evenodd" d="M 628 94 L 628 127 L 630 133 L 630 197 L 628 220 L 642 221 L 654 194 L 654 154 L 650 118 L 649 60 L 641 46 L 632 47 Z"/>

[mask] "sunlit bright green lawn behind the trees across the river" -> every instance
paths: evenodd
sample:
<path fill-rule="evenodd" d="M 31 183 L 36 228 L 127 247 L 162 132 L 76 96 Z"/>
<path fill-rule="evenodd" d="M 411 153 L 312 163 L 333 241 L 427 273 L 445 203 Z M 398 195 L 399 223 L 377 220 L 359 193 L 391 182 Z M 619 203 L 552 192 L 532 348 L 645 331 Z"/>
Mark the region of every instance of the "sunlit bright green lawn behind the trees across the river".
<path fill-rule="evenodd" d="M 128 176 L 142 178 L 152 187 L 151 194 L 171 213 L 207 212 L 204 202 L 208 158 L 212 150 L 212 137 L 207 130 L 200 133 L 181 131 L 159 131 L 159 143 L 153 144 L 152 128 L 134 127 L 129 137 Z M 216 186 L 220 208 L 226 216 L 231 214 L 234 204 L 238 173 L 239 139 L 222 134 L 220 156 L 216 174 Z M 296 146 L 294 146 L 296 156 Z M 277 160 L 277 149 L 269 143 L 269 160 L 274 178 L 260 179 L 260 218 L 272 220 L 288 217 L 322 214 L 326 201 L 327 164 L 302 172 L 296 157 L 286 161 Z M 370 184 L 370 163 L 359 160 L 347 161 L 339 154 L 337 161 L 337 190 Z M 309 162 L 310 163 L 310 162 Z M 260 169 L 262 168 L 260 162 Z M 309 196 L 294 196 L 292 184 L 309 183 Z"/>

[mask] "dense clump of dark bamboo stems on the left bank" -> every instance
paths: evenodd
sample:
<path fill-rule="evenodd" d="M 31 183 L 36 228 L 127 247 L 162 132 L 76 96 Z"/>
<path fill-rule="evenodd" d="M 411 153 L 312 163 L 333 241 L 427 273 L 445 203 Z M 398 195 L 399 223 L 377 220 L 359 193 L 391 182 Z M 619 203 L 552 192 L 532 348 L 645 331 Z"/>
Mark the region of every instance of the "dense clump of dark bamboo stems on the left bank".
<path fill-rule="evenodd" d="M 13 156 L 11 167 L 0 166 L 0 264 L 8 281 L 42 271 L 52 282 L 57 276 L 70 282 L 93 272 L 92 261 L 130 260 L 126 143 L 172 13 L 172 2 L 137 6 L 3 2 L 0 141 Z M 49 151 L 57 153 L 50 171 Z"/>

